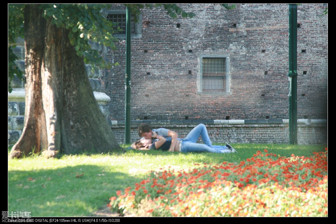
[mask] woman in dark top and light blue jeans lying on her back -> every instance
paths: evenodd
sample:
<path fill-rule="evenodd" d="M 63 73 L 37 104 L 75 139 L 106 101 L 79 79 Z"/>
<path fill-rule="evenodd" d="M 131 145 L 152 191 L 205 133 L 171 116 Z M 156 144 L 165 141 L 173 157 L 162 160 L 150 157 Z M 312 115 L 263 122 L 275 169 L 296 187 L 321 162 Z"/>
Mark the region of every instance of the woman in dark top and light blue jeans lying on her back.
<path fill-rule="evenodd" d="M 200 136 L 202 137 L 204 144 L 196 143 Z M 152 137 L 155 139 L 153 142 L 151 138 L 143 137 L 134 142 L 131 145 L 131 148 L 136 150 L 169 150 L 172 141 L 171 137 L 163 137 L 158 135 L 155 131 L 152 131 Z M 184 139 L 177 138 L 174 152 L 237 153 L 237 151 L 229 144 L 226 144 L 226 146 L 213 146 L 204 124 L 197 125 Z"/>

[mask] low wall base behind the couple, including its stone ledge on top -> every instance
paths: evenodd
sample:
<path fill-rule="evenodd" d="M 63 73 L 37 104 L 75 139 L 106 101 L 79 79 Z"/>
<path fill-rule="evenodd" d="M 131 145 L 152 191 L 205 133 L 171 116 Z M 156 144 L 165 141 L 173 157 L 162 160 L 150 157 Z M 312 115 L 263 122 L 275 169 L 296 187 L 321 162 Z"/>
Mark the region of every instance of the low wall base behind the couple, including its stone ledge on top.
<path fill-rule="evenodd" d="M 325 119 L 298 119 L 298 145 L 327 145 L 328 130 Z M 148 123 L 152 128 L 164 127 L 185 137 L 196 125 L 207 126 L 213 142 L 219 143 L 289 143 L 289 120 L 134 120 L 131 125 L 131 141 L 140 137 L 137 127 Z M 112 130 L 120 143 L 124 142 L 124 121 L 112 121 Z"/>

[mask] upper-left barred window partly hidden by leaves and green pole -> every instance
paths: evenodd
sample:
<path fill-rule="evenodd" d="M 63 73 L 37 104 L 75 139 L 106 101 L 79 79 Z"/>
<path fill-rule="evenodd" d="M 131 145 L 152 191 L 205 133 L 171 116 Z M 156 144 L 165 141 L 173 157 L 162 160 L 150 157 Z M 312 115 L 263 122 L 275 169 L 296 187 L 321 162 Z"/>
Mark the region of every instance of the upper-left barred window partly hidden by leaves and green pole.
<path fill-rule="evenodd" d="M 138 22 L 134 20 L 135 15 L 131 15 L 131 35 L 133 37 L 141 36 L 141 14 L 138 16 Z M 117 38 L 124 37 L 126 35 L 126 10 L 109 10 L 107 19 L 112 23 L 116 24 L 114 27 L 115 34 Z M 119 28 L 119 29 L 118 29 Z"/>

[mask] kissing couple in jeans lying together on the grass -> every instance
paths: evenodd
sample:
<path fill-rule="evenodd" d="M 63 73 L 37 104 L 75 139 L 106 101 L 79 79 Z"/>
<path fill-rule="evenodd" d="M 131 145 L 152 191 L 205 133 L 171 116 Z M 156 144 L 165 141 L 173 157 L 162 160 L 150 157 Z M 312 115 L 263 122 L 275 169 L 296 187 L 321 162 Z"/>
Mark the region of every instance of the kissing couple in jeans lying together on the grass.
<path fill-rule="evenodd" d="M 237 153 L 229 144 L 225 146 L 213 146 L 204 124 L 199 124 L 191 130 L 185 138 L 178 138 L 175 131 L 158 128 L 152 129 L 147 123 L 138 127 L 141 139 L 132 143 L 135 150 L 161 149 L 169 152 L 210 152 L 210 153 Z M 204 144 L 196 143 L 202 137 Z"/>

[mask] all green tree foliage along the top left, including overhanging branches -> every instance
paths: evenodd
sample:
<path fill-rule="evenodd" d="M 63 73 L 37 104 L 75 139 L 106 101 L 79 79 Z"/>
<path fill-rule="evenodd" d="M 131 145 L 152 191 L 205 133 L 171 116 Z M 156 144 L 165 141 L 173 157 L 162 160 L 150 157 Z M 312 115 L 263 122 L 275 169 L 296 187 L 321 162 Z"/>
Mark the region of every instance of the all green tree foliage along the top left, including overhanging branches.
<path fill-rule="evenodd" d="M 192 12 L 185 12 L 176 4 L 125 4 L 131 13 L 138 15 L 144 7 L 163 6 L 167 13 L 176 18 L 194 17 Z M 15 64 L 17 57 L 12 49 L 16 46 L 17 37 L 24 38 L 24 8 L 26 4 L 8 5 L 8 91 L 11 92 L 10 82 L 16 74 L 23 78 L 22 72 Z M 111 4 L 41 4 L 46 19 L 53 18 L 52 24 L 70 30 L 69 40 L 74 45 L 77 55 L 83 57 L 86 64 L 91 64 L 92 71 L 96 66 L 101 69 L 111 68 L 112 64 L 105 61 L 97 50 L 91 49 L 90 41 L 116 49 L 117 38 L 113 36 L 114 30 L 111 21 L 102 17 L 101 10 L 110 8 Z"/>

